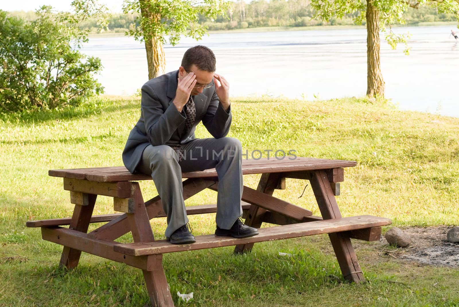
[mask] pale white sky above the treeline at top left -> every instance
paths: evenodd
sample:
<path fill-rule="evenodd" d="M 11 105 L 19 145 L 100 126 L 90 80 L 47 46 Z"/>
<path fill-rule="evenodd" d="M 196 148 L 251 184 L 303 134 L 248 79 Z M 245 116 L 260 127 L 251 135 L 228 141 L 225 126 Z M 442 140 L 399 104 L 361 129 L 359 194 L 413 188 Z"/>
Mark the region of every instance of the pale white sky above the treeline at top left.
<path fill-rule="evenodd" d="M 123 0 L 99 0 L 101 4 L 105 4 L 113 12 L 121 12 Z M 70 11 L 70 3 L 72 0 L 16 0 L 16 1 L 0 1 L 0 10 L 3 11 L 35 11 L 40 6 L 49 5 L 57 11 Z"/>

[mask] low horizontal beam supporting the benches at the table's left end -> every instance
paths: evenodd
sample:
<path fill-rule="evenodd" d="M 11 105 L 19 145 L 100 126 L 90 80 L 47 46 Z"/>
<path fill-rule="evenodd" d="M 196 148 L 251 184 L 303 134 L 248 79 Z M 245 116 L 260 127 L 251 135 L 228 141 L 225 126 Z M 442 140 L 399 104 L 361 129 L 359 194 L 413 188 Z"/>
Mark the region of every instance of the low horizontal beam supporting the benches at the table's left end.
<path fill-rule="evenodd" d="M 134 257 L 129 255 L 122 255 L 113 251 L 113 246 L 121 244 L 119 242 L 90 239 L 88 238 L 88 234 L 62 227 L 42 227 L 41 236 L 43 240 L 68 246 L 74 250 L 85 251 L 92 255 L 126 263 L 127 265 L 135 268 L 146 270 L 151 269 L 151 265 L 149 265 L 147 261 L 147 256 Z"/>

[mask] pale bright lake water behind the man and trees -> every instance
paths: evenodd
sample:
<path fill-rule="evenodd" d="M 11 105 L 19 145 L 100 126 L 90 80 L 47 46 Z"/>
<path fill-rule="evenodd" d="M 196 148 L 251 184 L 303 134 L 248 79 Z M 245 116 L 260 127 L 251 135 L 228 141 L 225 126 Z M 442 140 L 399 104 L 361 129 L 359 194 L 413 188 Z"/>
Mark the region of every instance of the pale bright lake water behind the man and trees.
<path fill-rule="evenodd" d="M 381 41 L 381 71 L 386 98 L 401 110 L 459 117 L 459 41 L 454 26 L 401 27 L 411 34 L 410 55 Z M 381 34 L 381 39 L 384 33 Z M 184 38 L 165 46 L 166 71 L 178 69 L 185 50 L 210 47 L 217 72 L 230 83 L 232 96 L 285 96 L 319 99 L 366 93 L 366 30 L 212 33 L 201 41 Z M 98 56 L 98 76 L 106 94 L 131 95 L 148 79 L 144 44 L 131 37 L 91 38 L 83 52 Z"/>

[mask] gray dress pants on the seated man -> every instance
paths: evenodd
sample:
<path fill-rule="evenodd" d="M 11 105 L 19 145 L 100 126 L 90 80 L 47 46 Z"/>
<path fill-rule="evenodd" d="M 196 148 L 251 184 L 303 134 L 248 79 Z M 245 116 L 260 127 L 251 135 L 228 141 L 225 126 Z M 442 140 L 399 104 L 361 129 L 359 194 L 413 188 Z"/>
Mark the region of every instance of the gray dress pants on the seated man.
<path fill-rule="evenodd" d="M 241 142 L 235 138 L 196 139 L 183 144 L 179 156 L 168 145 L 148 145 L 136 170 L 151 174 L 167 214 L 166 237 L 188 223 L 183 200 L 182 172 L 214 168 L 218 174 L 217 216 L 222 229 L 230 229 L 242 215 L 242 157 Z"/>

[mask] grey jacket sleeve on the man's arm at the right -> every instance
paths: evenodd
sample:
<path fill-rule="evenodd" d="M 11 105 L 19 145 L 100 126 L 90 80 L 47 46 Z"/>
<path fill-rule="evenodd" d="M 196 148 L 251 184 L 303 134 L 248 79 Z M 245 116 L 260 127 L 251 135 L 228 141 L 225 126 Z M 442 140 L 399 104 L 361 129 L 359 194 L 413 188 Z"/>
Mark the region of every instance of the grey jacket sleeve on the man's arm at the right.
<path fill-rule="evenodd" d="M 217 93 L 213 91 L 212 99 L 207 108 L 207 112 L 202 117 L 202 123 L 210 134 L 216 139 L 223 138 L 229 132 L 231 126 L 231 106 L 226 112 L 218 100 Z"/>

